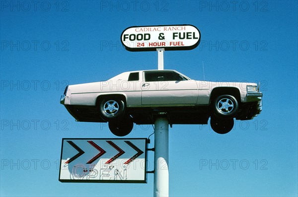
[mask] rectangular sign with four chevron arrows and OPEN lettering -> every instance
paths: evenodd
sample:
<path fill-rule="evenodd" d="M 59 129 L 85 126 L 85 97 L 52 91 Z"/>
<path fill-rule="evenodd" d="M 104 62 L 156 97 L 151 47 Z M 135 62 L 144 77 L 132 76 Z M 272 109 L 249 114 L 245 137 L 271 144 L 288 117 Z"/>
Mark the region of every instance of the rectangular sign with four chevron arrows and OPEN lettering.
<path fill-rule="evenodd" d="M 147 143 L 146 138 L 62 139 L 59 181 L 147 183 Z"/>

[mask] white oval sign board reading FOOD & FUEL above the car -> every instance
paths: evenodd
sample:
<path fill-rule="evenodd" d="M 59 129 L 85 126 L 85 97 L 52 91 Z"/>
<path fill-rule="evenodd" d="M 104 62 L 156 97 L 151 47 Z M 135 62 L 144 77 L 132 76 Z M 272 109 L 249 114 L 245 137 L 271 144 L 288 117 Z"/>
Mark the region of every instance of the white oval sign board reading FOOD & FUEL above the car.
<path fill-rule="evenodd" d="M 191 50 L 201 40 L 193 25 L 133 26 L 121 34 L 121 42 L 129 51 Z"/>

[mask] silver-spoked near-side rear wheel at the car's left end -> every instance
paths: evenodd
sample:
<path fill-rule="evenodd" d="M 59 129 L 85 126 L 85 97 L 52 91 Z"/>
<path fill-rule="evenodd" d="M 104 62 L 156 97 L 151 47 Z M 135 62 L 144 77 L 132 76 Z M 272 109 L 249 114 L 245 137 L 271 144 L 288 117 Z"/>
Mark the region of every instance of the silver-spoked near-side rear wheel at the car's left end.
<path fill-rule="evenodd" d="M 125 112 L 124 101 L 121 99 L 101 99 L 100 116 L 107 122 L 121 118 Z"/>

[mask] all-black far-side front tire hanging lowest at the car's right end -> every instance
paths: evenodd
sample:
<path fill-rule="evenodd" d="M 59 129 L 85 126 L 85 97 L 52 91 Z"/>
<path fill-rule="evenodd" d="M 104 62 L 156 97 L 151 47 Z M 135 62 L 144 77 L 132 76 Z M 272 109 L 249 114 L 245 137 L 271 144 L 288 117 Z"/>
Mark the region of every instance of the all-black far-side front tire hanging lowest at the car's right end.
<path fill-rule="evenodd" d="M 220 120 L 216 117 L 211 117 L 210 126 L 218 134 L 226 134 L 233 129 L 234 119 Z"/>

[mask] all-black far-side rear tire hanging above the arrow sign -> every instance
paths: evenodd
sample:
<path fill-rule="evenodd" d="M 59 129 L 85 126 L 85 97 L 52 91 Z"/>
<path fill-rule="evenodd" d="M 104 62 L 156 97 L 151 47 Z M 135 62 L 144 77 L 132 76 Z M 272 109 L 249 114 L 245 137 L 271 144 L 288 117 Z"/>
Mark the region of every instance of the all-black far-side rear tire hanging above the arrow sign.
<path fill-rule="evenodd" d="M 109 129 L 115 135 L 123 137 L 128 135 L 134 127 L 134 122 L 131 117 L 122 118 L 116 122 L 109 122 Z"/>

